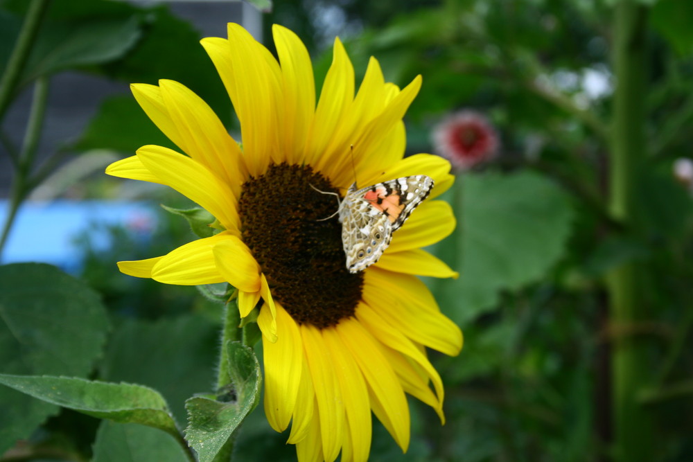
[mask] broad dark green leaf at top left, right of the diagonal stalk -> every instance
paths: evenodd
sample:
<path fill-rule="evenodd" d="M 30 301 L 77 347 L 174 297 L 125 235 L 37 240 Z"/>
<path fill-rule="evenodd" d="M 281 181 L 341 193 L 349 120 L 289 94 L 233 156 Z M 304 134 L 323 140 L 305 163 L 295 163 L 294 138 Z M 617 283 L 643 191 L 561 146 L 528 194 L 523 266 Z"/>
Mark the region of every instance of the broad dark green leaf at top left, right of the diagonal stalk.
<path fill-rule="evenodd" d="M 22 82 L 123 57 L 141 37 L 139 18 L 49 21 L 41 29 Z"/>

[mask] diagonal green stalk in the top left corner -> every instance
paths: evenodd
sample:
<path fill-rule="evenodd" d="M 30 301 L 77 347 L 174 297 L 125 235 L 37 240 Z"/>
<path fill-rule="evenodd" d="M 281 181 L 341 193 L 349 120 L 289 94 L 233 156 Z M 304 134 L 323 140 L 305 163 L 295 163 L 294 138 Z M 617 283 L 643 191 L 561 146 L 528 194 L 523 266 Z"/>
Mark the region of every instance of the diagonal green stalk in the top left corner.
<path fill-rule="evenodd" d="M 29 57 L 31 47 L 36 39 L 36 35 L 41 24 L 41 19 L 46 12 L 51 0 L 33 0 L 29 5 L 24 18 L 24 24 L 19 31 L 17 43 L 12 49 L 12 54 L 7 62 L 7 67 L 0 80 L 0 121 L 3 120 L 5 112 L 10 107 L 12 95 L 17 89 L 17 83 L 24 71 L 24 65 Z"/>

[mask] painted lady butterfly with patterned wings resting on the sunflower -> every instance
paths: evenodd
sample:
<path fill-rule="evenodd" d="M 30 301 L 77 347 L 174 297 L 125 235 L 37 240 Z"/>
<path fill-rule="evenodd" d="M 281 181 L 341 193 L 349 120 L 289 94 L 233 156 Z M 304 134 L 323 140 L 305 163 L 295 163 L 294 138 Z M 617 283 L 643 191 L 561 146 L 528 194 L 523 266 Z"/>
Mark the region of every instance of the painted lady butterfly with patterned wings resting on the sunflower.
<path fill-rule="evenodd" d="M 347 269 L 358 273 L 378 261 L 414 208 L 428 197 L 433 179 L 426 175 L 401 177 L 356 189 L 352 184 L 337 213 Z"/>

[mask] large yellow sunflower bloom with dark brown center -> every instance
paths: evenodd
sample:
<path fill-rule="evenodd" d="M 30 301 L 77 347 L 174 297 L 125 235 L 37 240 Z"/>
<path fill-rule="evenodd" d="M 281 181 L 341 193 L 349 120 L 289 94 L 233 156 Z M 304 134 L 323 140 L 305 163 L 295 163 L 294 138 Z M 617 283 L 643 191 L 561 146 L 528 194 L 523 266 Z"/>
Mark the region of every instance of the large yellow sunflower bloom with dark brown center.
<path fill-rule="evenodd" d="M 443 385 L 426 347 L 447 355 L 462 332 L 441 314 L 416 275 L 455 277 L 423 251 L 452 233 L 446 202 L 450 163 L 403 158 L 402 118 L 421 76 L 403 89 L 385 82 L 371 57 L 356 92 L 351 61 L 335 39 L 333 62 L 315 102 L 304 44 L 274 26 L 279 60 L 238 24 L 228 39 L 202 39 L 231 97 L 243 148 L 210 107 L 183 85 L 132 85 L 146 114 L 180 152 L 146 145 L 109 166 L 109 175 L 170 186 L 216 217 L 221 231 L 165 256 L 119 262 L 121 272 L 161 283 L 227 282 L 240 316 L 259 307 L 265 414 L 299 461 L 365 461 L 371 411 L 407 450 L 405 393 L 444 422 Z M 435 181 L 431 198 L 397 231 L 382 258 L 352 274 L 345 265 L 332 192 L 407 175 Z M 327 217 L 332 217 L 326 219 Z"/>

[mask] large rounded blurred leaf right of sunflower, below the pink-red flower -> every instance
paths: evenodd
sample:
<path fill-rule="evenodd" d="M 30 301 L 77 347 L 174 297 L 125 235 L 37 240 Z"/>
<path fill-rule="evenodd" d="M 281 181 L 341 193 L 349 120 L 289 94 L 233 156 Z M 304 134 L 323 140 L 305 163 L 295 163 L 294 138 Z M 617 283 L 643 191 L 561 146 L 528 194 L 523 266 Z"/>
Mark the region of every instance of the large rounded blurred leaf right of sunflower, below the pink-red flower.
<path fill-rule="evenodd" d="M 553 181 L 529 171 L 468 175 L 455 185 L 459 231 L 434 251 L 457 258 L 456 281 L 433 281 L 441 305 L 466 323 L 498 303 L 501 290 L 538 281 L 563 256 L 572 204 Z"/>

